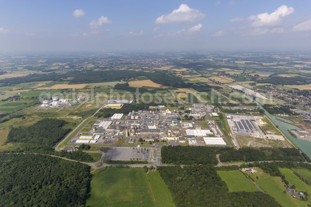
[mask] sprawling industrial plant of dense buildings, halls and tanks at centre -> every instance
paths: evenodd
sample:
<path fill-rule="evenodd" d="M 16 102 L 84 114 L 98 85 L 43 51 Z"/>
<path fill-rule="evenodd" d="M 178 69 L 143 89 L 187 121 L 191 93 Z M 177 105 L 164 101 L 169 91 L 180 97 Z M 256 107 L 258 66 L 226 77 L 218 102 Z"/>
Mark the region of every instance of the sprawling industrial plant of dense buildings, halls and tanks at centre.
<path fill-rule="evenodd" d="M 131 103 L 131 100 L 110 100 L 104 107 Z M 122 107 L 120 105 L 120 107 Z M 208 107 L 208 106 L 207 106 Z M 78 133 L 70 141 L 71 143 L 89 144 L 114 144 L 120 139 L 126 139 L 127 143 L 144 141 L 167 141 L 172 145 L 220 145 L 225 146 L 222 132 L 216 123 L 211 120 L 206 122 L 206 128 L 202 128 L 198 121 L 207 114 L 205 105 L 188 108 L 189 114 L 178 110 L 169 110 L 163 107 L 155 107 L 150 110 L 131 111 L 128 114 L 115 113 L 110 118 L 96 120 L 88 131 L 88 136 Z M 200 109 L 200 110 L 198 110 Z M 192 116 L 191 120 L 183 120 L 183 116 Z M 193 116 L 195 115 L 195 116 Z M 210 116 L 218 116 L 210 113 Z M 141 139 L 140 139 L 141 138 Z"/>

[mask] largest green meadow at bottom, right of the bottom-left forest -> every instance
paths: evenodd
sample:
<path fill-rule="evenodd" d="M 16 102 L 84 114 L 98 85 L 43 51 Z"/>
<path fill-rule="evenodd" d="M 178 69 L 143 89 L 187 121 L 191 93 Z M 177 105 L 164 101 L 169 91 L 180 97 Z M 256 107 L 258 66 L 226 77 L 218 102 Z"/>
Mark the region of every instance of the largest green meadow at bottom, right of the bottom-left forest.
<path fill-rule="evenodd" d="M 86 206 L 156 206 L 142 168 L 106 168 L 95 171 Z"/>

